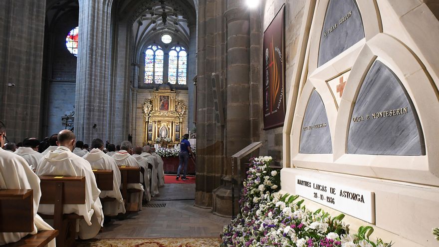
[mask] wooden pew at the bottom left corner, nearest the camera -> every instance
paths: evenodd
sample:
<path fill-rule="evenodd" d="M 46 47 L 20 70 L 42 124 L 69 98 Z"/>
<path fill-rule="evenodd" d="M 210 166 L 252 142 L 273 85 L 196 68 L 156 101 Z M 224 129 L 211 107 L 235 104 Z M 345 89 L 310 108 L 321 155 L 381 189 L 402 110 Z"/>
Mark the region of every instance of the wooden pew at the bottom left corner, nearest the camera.
<path fill-rule="evenodd" d="M 0 189 L 0 233 L 33 232 L 33 191 Z M 5 247 L 43 247 L 58 231 L 39 231 Z"/>

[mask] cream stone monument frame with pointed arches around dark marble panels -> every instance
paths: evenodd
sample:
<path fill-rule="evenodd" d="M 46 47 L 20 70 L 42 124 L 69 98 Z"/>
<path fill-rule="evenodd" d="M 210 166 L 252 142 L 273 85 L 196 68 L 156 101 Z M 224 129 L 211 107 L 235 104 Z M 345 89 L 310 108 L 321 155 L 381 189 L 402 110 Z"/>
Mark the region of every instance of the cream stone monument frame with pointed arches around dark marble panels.
<path fill-rule="evenodd" d="M 431 228 L 439 225 L 438 215 L 432 216 L 439 210 L 439 21 L 422 2 L 358 0 L 365 38 L 317 67 L 328 3 L 311 0 L 304 9 L 283 129 L 282 190 L 294 194 L 296 176 L 370 190 L 376 194 L 376 208 L 380 209 L 376 210 L 375 225 L 371 225 L 376 227 L 377 237 L 388 237 L 398 246 L 435 246 Z M 412 99 L 424 133 L 425 156 L 346 153 L 354 101 L 376 59 L 397 75 Z M 349 70 L 338 106 L 326 81 Z M 333 154 L 299 153 L 303 116 L 313 89 L 326 108 Z M 311 209 L 331 212 L 319 204 L 308 204 Z M 368 225 L 352 217 L 346 219 L 354 231 Z M 419 224 L 422 226 L 416 229 L 410 227 Z"/>

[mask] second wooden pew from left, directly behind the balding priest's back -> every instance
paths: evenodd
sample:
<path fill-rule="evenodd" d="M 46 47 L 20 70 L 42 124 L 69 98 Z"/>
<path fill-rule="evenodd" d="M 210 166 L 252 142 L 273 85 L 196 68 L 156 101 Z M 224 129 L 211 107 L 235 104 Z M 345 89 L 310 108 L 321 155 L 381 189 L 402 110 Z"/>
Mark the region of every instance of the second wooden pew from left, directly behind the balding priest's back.
<path fill-rule="evenodd" d="M 85 177 L 39 176 L 40 204 L 53 204 L 53 215 L 39 214 L 43 219 L 53 219 L 54 229 L 59 231 L 56 246 L 73 246 L 76 238 L 77 214 L 64 214 L 64 205 L 85 204 Z"/>

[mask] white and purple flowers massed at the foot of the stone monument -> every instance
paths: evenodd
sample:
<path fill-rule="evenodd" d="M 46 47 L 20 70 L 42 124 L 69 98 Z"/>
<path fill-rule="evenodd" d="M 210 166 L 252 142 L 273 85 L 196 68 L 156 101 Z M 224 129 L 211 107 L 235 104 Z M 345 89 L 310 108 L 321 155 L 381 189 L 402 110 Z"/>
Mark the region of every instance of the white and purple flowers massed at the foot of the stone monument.
<path fill-rule="evenodd" d="M 344 215 L 331 217 L 323 210 L 311 212 L 299 196 L 278 193 L 280 174 L 269 167 L 271 157 L 252 160 L 244 181 L 241 211 L 225 226 L 222 247 L 391 247 L 369 240 L 372 227 L 349 234 Z"/>

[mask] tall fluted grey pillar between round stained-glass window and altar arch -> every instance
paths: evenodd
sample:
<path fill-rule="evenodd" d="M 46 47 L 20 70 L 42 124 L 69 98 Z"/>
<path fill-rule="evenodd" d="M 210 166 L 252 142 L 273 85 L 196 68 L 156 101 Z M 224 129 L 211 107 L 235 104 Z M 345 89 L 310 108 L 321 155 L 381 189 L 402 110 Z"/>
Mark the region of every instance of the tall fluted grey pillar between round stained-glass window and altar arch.
<path fill-rule="evenodd" d="M 113 0 L 79 0 L 75 134 L 107 140 L 110 85 L 110 20 Z M 121 109 L 122 110 L 122 109 Z"/>

